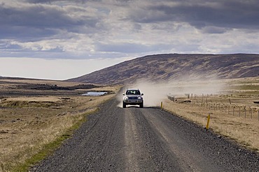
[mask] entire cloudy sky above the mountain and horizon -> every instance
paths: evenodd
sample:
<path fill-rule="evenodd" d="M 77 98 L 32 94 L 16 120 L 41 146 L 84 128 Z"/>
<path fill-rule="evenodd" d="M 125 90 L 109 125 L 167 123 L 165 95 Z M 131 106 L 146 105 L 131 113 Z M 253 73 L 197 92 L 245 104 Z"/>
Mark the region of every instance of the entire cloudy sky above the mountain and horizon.
<path fill-rule="evenodd" d="M 0 0 L 0 76 L 63 80 L 151 54 L 258 54 L 258 9 L 258 0 Z"/>

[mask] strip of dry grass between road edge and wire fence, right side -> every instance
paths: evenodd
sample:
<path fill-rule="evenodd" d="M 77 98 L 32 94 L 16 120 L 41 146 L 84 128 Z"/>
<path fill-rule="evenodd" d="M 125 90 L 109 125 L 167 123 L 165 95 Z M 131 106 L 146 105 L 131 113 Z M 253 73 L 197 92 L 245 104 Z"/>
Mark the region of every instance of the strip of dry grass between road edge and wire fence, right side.
<path fill-rule="evenodd" d="M 258 120 L 239 118 L 222 111 L 211 111 L 202 107 L 190 107 L 189 104 L 179 104 L 170 100 L 165 100 L 164 108 L 204 127 L 207 124 L 208 114 L 211 114 L 209 127 L 214 132 L 235 139 L 238 143 L 253 150 L 259 150 Z"/>

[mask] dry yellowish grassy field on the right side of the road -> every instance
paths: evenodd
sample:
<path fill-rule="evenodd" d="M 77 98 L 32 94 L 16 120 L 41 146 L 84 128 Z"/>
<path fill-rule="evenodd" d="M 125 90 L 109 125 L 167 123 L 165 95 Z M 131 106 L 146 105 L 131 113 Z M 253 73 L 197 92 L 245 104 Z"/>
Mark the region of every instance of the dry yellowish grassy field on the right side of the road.
<path fill-rule="evenodd" d="M 259 152 L 259 78 L 225 79 L 225 86 L 214 94 L 175 95 L 176 101 L 164 100 L 164 109 L 207 125 L 214 132 Z M 202 82 L 200 84 L 202 88 Z M 190 92 L 189 92 L 190 93 Z"/>

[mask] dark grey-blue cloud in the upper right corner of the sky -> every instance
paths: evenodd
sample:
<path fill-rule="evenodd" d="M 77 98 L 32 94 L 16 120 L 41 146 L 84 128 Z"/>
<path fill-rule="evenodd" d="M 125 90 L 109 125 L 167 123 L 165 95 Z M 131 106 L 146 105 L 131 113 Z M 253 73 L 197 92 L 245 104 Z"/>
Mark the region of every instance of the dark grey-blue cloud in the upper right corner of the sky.
<path fill-rule="evenodd" d="M 174 6 L 167 4 L 169 3 L 146 6 L 144 10 L 147 13 L 141 13 L 140 17 L 139 13 L 134 12 L 130 19 L 145 23 L 187 22 L 197 29 L 204 26 L 259 29 L 257 0 L 178 1 Z"/>

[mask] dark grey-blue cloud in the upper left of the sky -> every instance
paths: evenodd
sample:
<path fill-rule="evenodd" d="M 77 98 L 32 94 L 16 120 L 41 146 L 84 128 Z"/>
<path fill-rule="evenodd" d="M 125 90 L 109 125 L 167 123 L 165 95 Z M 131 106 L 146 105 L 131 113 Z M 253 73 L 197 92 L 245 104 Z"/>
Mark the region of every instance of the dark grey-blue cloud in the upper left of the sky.
<path fill-rule="evenodd" d="M 92 28 L 98 22 L 94 17 L 71 17 L 69 11 L 41 4 L 11 7 L 2 3 L 0 16 L 0 37 L 18 40 L 42 39 L 54 36 L 60 30 L 80 33 L 82 26 Z"/>

